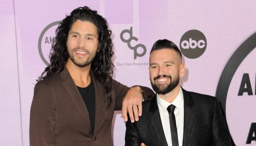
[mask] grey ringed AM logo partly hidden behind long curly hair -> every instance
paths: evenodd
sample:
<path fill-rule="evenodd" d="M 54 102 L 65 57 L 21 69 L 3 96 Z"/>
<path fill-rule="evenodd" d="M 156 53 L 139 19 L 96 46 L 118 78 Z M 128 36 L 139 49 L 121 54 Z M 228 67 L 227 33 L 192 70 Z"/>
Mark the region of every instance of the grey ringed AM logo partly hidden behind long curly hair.
<path fill-rule="evenodd" d="M 47 59 L 49 58 L 47 54 L 50 53 L 50 48 L 51 48 L 51 44 L 53 43 L 54 41 L 54 36 L 55 36 L 55 31 L 51 30 L 51 31 L 48 31 L 49 29 L 54 29 L 53 26 L 55 25 L 59 25 L 61 21 L 55 21 L 49 25 L 47 25 L 42 33 L 40 34 L 39 36 L 39 39 L 38 39 L 38 52 L 39 52 L 39 55 L 42 59 L 42 61 L 47 65 L 49 66 L 50 63 L 46 60 L 46 58 L 44 56 L 47 56 Z M 42 49 L 43 48 L 43 49 Z"/>

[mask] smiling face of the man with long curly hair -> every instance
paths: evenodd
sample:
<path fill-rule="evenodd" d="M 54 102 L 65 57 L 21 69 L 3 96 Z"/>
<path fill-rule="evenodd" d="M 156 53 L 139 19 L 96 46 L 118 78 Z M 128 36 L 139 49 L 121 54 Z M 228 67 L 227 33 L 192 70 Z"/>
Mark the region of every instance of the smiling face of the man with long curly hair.
<path fill-rule="evenodd" d="M 67 39 L 69 60 L 78 67 L 86 67 L 98 51 L 97 27 L 88 21 L 75 21 Z"/>

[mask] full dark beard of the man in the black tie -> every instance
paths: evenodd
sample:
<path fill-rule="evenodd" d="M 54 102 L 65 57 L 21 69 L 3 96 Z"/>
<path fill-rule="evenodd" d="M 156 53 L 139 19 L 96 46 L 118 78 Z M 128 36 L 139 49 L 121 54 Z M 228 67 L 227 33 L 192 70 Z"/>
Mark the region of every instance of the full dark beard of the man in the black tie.
<path fill-rule="evenodd" d="M 157 94 L 165 95 L 165 94 L 171 92 L 175 87 L 178 86 L 179 80 L 180 80 L 178 75 L 179 74 L 177 74 L 176 78 L 174 78 L 173 81 L 172 81 L 172 77 L 170 75 L 158 75 L 157 77 L 154 78 L 154 83 L 151 81 L 151 86 Z M 155 83 L 156 79 L 159 79 L 161 77 L 169 78 L 170 83 L 156 84 Z"/>

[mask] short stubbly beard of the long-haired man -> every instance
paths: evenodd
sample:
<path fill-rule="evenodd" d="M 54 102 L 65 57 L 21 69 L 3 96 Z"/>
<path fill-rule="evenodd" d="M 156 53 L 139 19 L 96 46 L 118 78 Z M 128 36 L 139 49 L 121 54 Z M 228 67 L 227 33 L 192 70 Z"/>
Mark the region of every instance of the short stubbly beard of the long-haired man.
<path fill-rule="evenodd" d="M 74 52 L 75 50 L 83 50 L 85 52 L 87 52 L 87 59 L 85 61 L 83 61 L 83 58 L 82 57 L 78 57 L 78 56 L 75 56 L 74 55 Z M 94 60 L 95 56 L 96 56 L 96 53 L 97 53 L 98 50 L 96 50 L 95 52 L 89 52 L 88 50 L 86 49 L 83 49 L 83 48 L 73 48 L 72 50 L 68 50 L 68 56 L 70 58 L 70 60 L 78 67 L 86 67 L 88 66 L 89 64 L 92 63 L 92 61 Z"/>

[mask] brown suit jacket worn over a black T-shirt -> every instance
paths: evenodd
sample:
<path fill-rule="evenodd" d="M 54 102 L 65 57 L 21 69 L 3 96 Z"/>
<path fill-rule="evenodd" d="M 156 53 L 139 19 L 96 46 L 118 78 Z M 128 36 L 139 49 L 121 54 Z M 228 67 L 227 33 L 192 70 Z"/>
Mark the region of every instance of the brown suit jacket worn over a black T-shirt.
<path fill-rule="evenodd" d="M 127 86 L 113 80 L 113 103 L 106 110 L 103 84 L 90 71 L 95 88 L 95 129 L 92 134 L 89 113 L 65 67 L 61 73 L 38 82 L 30 109 L 30 146 L 110 146 L 114 110 L 122 110 Z M 141 86 L 144 98 L 154 92 Z M 121 118 L 121 117 L 120 117 Z"/>

